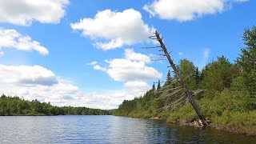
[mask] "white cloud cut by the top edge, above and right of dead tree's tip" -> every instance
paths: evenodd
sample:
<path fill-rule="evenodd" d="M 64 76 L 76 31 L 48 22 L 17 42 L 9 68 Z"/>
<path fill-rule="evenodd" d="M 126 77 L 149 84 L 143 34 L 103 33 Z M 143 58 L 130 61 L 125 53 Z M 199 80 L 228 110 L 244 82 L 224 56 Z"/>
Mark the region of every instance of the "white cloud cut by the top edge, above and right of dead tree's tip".
<path fill-rule="evenodd" d="M 193 20 L 205 14 L 216 14 L 226 10 L 232 2 L 247 0 L 154 0 L 143 7 L 151 16 L 174 19 L 179 22 Z"/>

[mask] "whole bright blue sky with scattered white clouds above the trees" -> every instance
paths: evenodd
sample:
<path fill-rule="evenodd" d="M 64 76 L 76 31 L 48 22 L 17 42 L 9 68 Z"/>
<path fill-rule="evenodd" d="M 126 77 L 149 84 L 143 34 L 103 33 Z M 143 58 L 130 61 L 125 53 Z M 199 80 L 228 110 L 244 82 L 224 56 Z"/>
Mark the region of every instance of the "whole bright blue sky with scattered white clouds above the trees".
<path fill-rule="evenodd" d="M 202 70 L 244 47 L 253 0 L 0 0 L 0 94 L 54 106 L 114 109 L 164 81 L 150 40 Z"/>

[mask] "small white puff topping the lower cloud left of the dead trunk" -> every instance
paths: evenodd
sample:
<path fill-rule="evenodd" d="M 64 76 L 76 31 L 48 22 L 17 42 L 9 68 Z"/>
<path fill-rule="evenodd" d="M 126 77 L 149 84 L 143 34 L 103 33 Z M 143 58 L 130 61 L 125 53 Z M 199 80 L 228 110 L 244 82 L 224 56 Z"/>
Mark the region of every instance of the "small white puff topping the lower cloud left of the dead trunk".
<path fill-rule="evenodd" d="M 145 54 L 135 53 L 133 49 L 126 49 L 124 57 L 132 61 L 151 62 L 149 56 Z"/>

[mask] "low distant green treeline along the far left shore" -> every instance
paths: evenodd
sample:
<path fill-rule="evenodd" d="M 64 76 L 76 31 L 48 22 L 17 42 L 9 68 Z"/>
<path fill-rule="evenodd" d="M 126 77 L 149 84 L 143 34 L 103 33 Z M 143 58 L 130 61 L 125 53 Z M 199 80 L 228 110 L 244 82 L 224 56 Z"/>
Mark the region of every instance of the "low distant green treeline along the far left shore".
<path fill-rule="evenodd" d="M 0 98 L 0 115 L 108 115 L 108 110 L 86 107 L 52 106 L 50 102 L 39 102 L 37 99 L 27 101 L 17 96 L 2 94 Z"/>

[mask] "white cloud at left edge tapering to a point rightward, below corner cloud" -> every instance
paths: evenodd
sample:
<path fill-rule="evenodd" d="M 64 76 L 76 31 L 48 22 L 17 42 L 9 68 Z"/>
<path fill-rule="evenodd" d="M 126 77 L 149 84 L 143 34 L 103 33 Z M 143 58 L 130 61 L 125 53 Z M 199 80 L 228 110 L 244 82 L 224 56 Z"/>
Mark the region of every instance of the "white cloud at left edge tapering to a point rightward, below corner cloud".
<path fill-rule="evenodd" d="M 33 41 L 29 36 L 24 36 L 13 29 L 3 29 L 0 27 L 0 49 L 14 48 L 16 50 L 36 50 L 40 54 L 48 54 L 46 47 L 39 42 Z"/>

